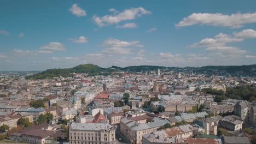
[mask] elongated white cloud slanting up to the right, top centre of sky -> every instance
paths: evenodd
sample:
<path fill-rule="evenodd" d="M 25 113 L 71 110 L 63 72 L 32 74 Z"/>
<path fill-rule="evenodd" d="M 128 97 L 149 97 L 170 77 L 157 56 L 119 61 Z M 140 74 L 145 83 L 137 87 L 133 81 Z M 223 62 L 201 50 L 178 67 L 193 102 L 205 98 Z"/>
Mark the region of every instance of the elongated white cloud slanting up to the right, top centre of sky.
<path fill-rule="evenodd" d="M 133 20 L 136 19 L 136 17 L 141 17 L 142 15 L 146 14 L 151 14 L 151 12 L 142 7 L 139 7 L 125 9 L 121 13 L 117 13 L 114 15 L 105 15 L 102 17 L 94 15 L 92 19 L 94 19 L 98 26 L 107 26 L 117 24 L 121 21 Z"/>

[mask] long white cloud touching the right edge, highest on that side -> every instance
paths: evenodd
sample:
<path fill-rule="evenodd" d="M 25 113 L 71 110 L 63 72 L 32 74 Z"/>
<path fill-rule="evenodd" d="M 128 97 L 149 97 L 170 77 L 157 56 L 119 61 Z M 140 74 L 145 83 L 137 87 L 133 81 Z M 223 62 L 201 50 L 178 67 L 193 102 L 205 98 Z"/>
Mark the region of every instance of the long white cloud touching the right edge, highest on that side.
<path fill-rule="evenodd" d="M 247 23 L 256 22 L 256 13 L 236 13 L 231 15 L 224 15 L 220 13 L 194 13 L 185 17 L 182 21 L 176 24 L 177 27 L 192 26 L 196 24 L 223 26 L 231 28 L 239 28 Z"/>

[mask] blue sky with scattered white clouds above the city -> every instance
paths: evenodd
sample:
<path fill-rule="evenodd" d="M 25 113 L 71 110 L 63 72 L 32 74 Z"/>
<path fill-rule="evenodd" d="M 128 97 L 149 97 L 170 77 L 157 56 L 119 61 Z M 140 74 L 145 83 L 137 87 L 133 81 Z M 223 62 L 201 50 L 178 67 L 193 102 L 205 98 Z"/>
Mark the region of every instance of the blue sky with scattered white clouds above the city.
<path fill-rule="evenodd" d="M 256 1 L 0 1 L 0 70 L 256 64 Z"/>

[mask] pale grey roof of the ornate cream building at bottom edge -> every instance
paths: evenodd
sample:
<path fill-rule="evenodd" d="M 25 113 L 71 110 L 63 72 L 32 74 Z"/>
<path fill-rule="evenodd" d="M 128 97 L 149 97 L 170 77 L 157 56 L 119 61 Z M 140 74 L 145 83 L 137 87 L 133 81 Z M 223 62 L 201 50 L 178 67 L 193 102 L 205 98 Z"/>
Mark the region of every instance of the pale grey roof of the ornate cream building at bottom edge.
<path fill-rule="evenodd" d="M 110 130 L 109 123 L 72 123 L 71 130 Z"/>

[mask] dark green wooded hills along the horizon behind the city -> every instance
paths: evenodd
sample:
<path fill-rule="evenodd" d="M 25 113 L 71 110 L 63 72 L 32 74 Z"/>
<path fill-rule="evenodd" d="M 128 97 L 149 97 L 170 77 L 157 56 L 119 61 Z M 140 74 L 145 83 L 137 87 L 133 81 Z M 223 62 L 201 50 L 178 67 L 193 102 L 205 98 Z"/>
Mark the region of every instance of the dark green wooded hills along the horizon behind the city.
<path fill-rule="evenodd" d="M 73 68 L 69 69 L 48 69 L 43 71 L 42 73 L 34 74 L 31 76 L 27 76 L 26 79 L 47 79 L 53 78 L 56 76 L 72 76 L 72 73 L 86 73 L 89 76 L 95 75 L 110 75 L 113 71 L 130 71 L 130 72 L 141 72 L 141 71 L 153 71 L 158 69 L 165 70 L 187 70 L 196 71 L 199 74 L 230 74 L 230 75 L 246 75 L 246 76 L 256 76 L 256 65 L 241 65 L 241 66 L 205 66 L 200 68 L 194 67 L 185 67 L 185 68 L 177 68 L 177 67 L 161 67 L 161 66 L 153 66 L 153 65 L 140 65 L 140 66 L 129 66 L 129 67 L 117 67 L 112 66 L 110 68 L 101 68 L 98 65 L 94 64 L 81 64 Z"/>

